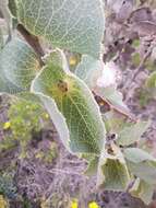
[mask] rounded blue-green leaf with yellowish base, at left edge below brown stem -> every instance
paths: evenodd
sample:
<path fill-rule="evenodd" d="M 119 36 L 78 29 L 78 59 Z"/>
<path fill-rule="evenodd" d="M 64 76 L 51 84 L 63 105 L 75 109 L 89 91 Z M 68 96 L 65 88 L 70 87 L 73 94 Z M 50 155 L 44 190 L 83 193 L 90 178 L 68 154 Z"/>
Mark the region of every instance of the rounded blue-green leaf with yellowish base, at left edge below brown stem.
<path fill-rule="evenodd" d="M 23 91 L 29 90 L 32 80 L 40 69 L 34 50 L 19 38 L 12 39 L 3 48 L 0 62 L 2 79 L 4 77 L 11 85 Z"/>

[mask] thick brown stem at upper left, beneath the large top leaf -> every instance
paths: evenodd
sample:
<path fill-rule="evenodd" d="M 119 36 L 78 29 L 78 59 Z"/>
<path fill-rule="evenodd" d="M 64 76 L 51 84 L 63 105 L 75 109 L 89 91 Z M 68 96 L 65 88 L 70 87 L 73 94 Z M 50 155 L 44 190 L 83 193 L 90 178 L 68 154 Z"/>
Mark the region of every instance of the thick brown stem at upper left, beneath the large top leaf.
<path fill-rule="evenodd" d="M 41 57 L 45 56 L 45 53 L 39 44 L 38 37 L 32 35 L 22 24 L 19 24 L 16 30 L 22 34 L 25 41 L 33 47 L 33 49 L 35 50 L 35 53 L 39 58 L 40 65 L 43 66 L 44 62 L 41 60 Z"/>

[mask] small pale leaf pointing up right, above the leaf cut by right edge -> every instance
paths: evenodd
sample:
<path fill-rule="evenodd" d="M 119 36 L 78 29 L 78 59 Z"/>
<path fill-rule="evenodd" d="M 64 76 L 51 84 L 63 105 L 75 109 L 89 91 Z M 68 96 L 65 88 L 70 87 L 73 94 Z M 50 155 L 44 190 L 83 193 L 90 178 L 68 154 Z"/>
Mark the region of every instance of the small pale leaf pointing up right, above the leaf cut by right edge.
<path fill-rule="evenodd" d="M 147 130 L 151 122 L 137 122 L 130 127 L 124 127 L 118 135 L 118 145 L 130 146 L 141 138 L 141 136 Z"/>

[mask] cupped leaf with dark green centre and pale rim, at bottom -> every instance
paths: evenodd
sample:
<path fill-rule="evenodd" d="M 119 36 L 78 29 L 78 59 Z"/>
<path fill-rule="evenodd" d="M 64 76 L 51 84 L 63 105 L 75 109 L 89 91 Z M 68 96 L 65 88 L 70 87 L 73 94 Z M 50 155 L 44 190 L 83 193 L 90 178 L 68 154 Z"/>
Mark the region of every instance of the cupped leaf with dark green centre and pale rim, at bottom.
<path fill-rule="evenodd" d="M 111 148 L 112 154 L 101 153 L 97 185 L 106 190 L 125 190 L 130 183 L 129 171 L 120 149 Z"/>

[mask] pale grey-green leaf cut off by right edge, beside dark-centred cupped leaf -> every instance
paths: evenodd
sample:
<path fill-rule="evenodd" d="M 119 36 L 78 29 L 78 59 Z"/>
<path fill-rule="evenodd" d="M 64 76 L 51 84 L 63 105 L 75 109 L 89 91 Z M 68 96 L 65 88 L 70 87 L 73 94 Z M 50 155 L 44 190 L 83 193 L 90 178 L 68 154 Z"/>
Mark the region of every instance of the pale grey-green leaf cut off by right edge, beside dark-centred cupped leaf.
<path fill-rule="evenodd" d="M 148 184 L 156 184 L 156 159 L 137 148 L 124 150 L 130 172 Z"/>

